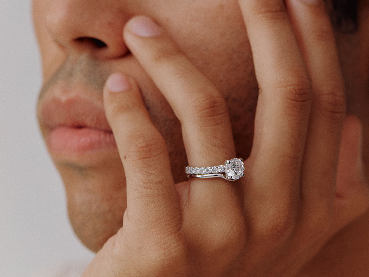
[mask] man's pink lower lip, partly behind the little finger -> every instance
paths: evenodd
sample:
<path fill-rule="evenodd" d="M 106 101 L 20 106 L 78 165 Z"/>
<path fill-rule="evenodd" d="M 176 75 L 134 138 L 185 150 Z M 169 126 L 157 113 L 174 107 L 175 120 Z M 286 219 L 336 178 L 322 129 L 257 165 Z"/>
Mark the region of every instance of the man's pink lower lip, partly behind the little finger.
<path fill-rule="evenodd" d="M 57 127 L 49 134 L 48 144 L 57 155 L 83 155 L 117 147 L 112 132 L 88 127 Z"/>

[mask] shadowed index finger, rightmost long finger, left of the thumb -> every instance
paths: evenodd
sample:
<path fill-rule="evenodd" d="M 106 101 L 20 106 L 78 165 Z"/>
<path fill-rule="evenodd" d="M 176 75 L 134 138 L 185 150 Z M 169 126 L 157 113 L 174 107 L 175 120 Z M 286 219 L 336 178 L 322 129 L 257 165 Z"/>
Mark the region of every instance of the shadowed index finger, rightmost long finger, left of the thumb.
<path fill-rule="evenodd" d="M 342 124 L 344 82 L 330 18 L 321 0 L 286 1 L 313 87 L 313 103 L 302 169 L 306 212 L 331 211 Z"/>

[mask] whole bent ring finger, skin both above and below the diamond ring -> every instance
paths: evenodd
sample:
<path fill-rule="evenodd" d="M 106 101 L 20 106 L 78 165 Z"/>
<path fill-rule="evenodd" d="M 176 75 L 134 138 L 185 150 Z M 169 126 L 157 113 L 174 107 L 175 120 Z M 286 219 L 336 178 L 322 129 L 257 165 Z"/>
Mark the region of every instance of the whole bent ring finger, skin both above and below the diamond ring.
<path fill-rule="evenodd" d="M 168 100 L 182 125 L 182 136 L 190 166 L 220 165 L 235 158 L 230 119 L 224 98 L 214 85 L 189 61 L 175 42 L 145 16 L 132 18 L 125 26 L 124 39 L 155 85 Z M 220 216 L 214 211 L 234 209 L 237 194 L 229 182 L 199 179 L 188 183 L 184 216 L 214 228 Z M 224 209 L 227 206 L 228 209 Z M 197 229 L 197 228 L 196 228 Z"/>

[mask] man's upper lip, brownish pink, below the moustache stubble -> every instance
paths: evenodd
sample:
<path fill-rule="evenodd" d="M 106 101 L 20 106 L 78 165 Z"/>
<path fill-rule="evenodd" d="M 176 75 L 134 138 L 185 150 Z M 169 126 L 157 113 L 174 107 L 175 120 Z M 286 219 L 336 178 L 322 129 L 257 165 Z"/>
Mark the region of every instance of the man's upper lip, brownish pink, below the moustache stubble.
<path fill-rule="evenodd" d="M 52 96 L 41 103 L 38 117 L 49 130 L 56 127 L 87 127 L 111 132 L 103 105 L 81 95 Z"/>

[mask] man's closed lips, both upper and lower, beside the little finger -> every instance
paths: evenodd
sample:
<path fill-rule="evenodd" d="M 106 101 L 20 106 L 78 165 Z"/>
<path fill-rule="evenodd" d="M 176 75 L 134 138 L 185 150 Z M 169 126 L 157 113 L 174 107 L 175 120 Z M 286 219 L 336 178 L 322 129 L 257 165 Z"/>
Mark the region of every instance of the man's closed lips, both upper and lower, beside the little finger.
<path fill-rule="evenodd" d="M 52 96 L 41 103 L 38 117 L 54 158 L 89 159 L 91 154 L 117 148 L 103 106 L 94 99 Z"/>

